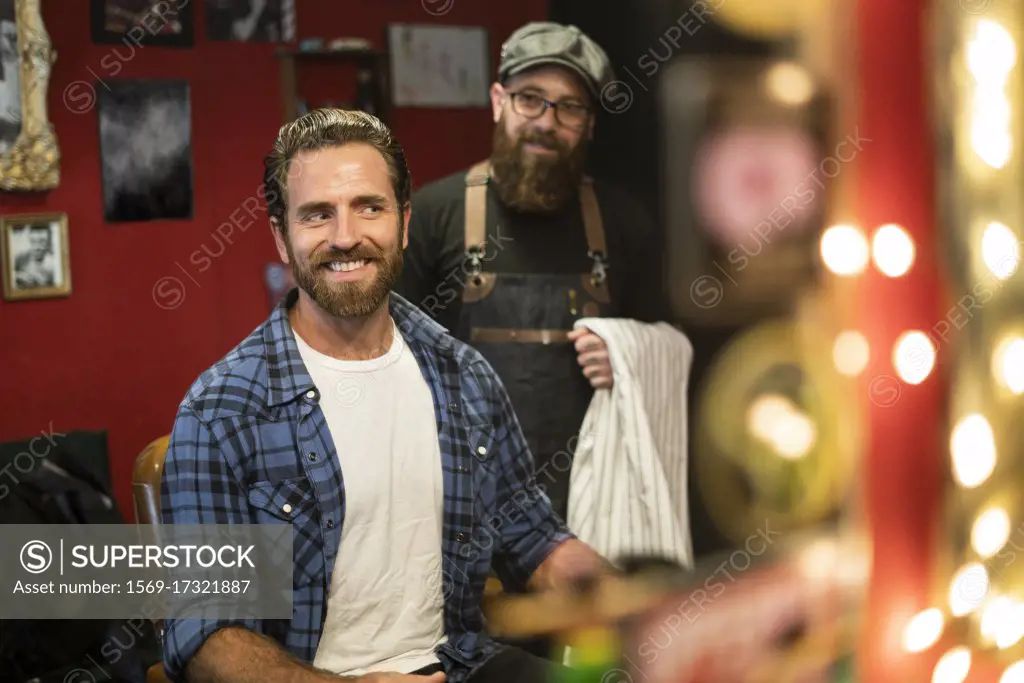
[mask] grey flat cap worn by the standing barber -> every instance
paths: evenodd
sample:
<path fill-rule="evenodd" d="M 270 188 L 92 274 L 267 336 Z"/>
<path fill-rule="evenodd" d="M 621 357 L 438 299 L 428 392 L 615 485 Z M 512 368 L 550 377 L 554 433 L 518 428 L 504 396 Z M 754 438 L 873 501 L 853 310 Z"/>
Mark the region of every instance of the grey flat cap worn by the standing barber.
<path fill-rule="evenodd" d="M 578 74 L 595 99 L 614 76 L 601 46 L 574 26 L 532 22 L 516 30 L 502 45 L 498 80 L 544 65 L 565 67 Z"/>

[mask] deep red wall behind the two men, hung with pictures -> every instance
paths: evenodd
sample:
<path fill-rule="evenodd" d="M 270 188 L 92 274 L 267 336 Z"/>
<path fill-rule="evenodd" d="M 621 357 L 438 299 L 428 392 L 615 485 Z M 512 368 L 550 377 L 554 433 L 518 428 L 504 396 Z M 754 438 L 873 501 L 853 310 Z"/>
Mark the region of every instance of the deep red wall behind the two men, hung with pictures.
<path fill-rule="evenodd" d="M 193 4 L 194 48 L 143 47 L 131 54 L 124 45 L 92 44 L 86 0 L 44 0 L 57 51 L 49 114 L 62 154 L 60 186 L 45 195 L 0 194 L 3 214 L 67 212 L 73 284 L 67 299 L 0 301 L 0 441 L 38 434 L 51 424 L 65 432 L 108 430 L 115 494 L 128 515 L 135 456 L 170 431 L 193 380 L 266 317 L 261 271 L 276 258 L 265 214 L 257 214 L 251 226 L 228 236 L 230 244 L 210 265 L 189 261 L 204 246 L 210 254 L 221 250 L 213 230 L 255 196 L 262 157 L 282 124 L 274 47 L 207 42 L 203 3 Z M 379 47 L 392 22 L 485 27 L 492 73 L 502 41 L 519 25 L 547 15 L 545 0 L 297 4 L 300 37 L 358 36 Z M 445 4 L 451 9 L 442 16 L 425 9 Z M 115 49 L 120 56 L 112 58 Z M 195 220 L 103 222 L 96 113 L 70 111 L 63 92 L 76 81 L 106 79 L 118 67 L 118 78 L 190 84 Z M 332 78 L 330 72 L 317 67 L 304 73 L 304 94 L 325 93 L 314 105 L 332 98 L 330 83 L 317 82 Z M 341 68 L 338 80 L 348 75 Z M 82 102 L 81 90 L 73 94 L 72 103 Z M 346 96 L 339 90 L 333 99 Z M 483 109 L 395 110 L 391 124 L 417 185 L 468 166 L 486 154 L 490 140 L 490 114 Z M 173 309 L 155 302 L 162 278 L 177 278 L 184 288 Z"/>

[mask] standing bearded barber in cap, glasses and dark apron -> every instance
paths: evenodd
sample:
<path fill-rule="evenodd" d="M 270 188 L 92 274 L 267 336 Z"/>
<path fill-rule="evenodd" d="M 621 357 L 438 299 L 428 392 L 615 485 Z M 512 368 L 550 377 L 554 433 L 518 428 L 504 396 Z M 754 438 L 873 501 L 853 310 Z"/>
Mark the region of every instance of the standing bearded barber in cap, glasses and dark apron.
<path fill-rule="evenodd" d="M 396 288 L 495 368 L 563 517 L 584 416 L 612 383 L 604 342 L 575 321 L 669 317 L 648 212 L 584 174 L 611 78 L 575 27 L 513 33 L 490 87 L 490 157 L 414 196 Z"/>

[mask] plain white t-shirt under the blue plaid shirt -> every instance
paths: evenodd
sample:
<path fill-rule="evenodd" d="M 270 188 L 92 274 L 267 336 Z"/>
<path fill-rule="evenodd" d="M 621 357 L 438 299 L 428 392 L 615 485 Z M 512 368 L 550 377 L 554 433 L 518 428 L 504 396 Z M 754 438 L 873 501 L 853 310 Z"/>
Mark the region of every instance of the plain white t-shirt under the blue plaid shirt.
<path fill-rule="evenodd" d="M 346 676 L 429 666 L 445 638 L 444 492 L 430 387 L 396 327 L 391 348 L 371 360 L 338 360 L 295 340 L 321 391 L 345 484 L 313 666 Z"/>

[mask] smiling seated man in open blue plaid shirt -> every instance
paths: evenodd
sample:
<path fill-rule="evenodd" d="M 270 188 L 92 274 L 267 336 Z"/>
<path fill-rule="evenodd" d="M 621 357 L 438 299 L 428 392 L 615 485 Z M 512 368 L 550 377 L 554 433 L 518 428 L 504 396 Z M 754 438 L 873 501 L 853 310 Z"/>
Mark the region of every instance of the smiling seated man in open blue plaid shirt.
<path fill-rule="evenodd" d="M 490 567 L 534 590 L 601 570 L 538 488 L 490 366 L 390 291 L 411 184 L 361 112 L 311 112 L 266 158 L 298 287 L 189 389 L 161 505 L 165 523 L 290 523 L 294 615 L 168 621 L 172 680 L 544 681 L 553 665 L 484 633 Z"/>

